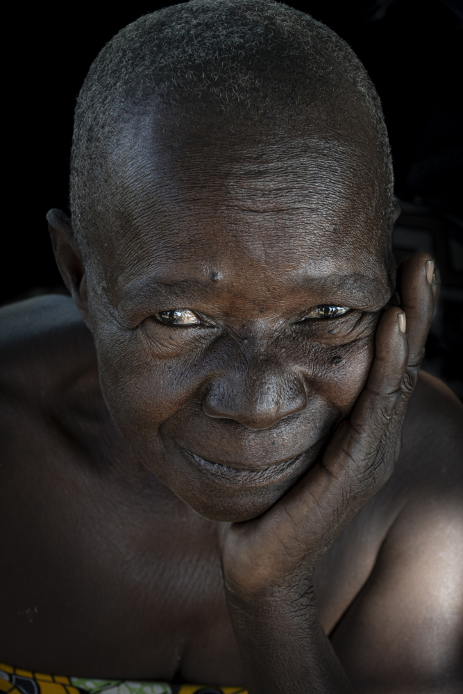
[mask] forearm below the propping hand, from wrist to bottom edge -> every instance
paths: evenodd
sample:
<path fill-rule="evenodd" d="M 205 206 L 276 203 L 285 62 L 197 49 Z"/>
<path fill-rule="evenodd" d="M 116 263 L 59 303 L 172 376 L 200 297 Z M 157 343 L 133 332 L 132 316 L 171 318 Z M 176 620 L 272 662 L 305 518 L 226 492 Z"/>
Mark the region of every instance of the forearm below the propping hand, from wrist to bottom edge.
<path fill-rule="evenodd" d="M 351 694 L 353 688 L 323 633 L 314 593 L 226 589 L 249 694 Z"/>

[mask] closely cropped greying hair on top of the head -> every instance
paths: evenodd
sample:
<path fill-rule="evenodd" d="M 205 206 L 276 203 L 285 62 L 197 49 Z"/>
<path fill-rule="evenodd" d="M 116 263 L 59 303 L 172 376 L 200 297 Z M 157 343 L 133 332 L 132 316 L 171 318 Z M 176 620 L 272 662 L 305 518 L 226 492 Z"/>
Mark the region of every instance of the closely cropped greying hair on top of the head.
<path fill-rule="evenodd" d="M 144 15 L 104 46 L 77 99 L 70 207 L 81 250 L 101 207 L 108 151 L 121 125 L 160 101 L 215 103 L 224 119 L 360 109 L 377 149 L 379 189 L 392 208 L 393 174 L 380 99 L 352 49 L 328 27 L 273 0 L 191 0 Z M 344 105 L 346 104 L 345 108 Z M 349 105 L 350 104 L 350 105 Z M 342 119 L 341 117 L 341 119 Z M 280 117 L 285 124 L 285 117 Z M 357 127 L 358 130 L 358 127 Z M 84 253 L 85 255 L 85 253 Z"/>

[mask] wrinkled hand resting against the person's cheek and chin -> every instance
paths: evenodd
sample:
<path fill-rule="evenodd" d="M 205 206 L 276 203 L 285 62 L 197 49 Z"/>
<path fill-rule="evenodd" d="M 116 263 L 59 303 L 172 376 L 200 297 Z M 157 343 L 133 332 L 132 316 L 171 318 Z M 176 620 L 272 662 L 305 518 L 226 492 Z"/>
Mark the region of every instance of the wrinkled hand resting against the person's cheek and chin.
<path fill-rule="evenodd" d="M 221 525 L 229 586 L 251 592 L 283 588 L 310 575 L 342 528 L 389 480 L 437 301 L 436 275 L 426 253 L 402 262 L 401 308 L 382 314 L 367 384 L 321 462 L 263 516 Z"/>

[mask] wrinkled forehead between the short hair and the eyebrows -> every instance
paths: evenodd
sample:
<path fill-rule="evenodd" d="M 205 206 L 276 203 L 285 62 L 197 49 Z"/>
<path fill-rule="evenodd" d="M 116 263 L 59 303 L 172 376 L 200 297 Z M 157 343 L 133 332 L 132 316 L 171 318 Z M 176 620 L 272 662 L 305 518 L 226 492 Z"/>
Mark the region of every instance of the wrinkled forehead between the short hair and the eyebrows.
<path fill-rule="evenodd" d="M 111 167 L 97 244 L 108 282 L 245 264 L 257 273 L 384 274 L 387 208 L 365 147 L 329 133 L 203 127 L 172 135 L 141 126 Z"/>

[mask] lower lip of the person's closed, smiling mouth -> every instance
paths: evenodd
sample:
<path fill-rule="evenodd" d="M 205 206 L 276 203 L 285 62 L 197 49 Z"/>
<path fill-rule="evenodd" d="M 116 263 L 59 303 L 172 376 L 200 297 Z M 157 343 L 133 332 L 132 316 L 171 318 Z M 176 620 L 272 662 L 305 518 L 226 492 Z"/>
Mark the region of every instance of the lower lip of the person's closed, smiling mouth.
<path fill-rule="evenodd" d="M 226 486 L 267 486 L 276 482 L 283 482 L 287 477 L 303 471 L 307 466 L 310 450 L 305 450 L 299 455 L 278 463 L 256 468 L 243 468 L 214 463 L 189 450 L 181 449 L 188 462 L 199 468 L 216 484 Z"/>

